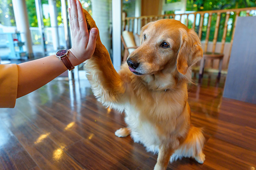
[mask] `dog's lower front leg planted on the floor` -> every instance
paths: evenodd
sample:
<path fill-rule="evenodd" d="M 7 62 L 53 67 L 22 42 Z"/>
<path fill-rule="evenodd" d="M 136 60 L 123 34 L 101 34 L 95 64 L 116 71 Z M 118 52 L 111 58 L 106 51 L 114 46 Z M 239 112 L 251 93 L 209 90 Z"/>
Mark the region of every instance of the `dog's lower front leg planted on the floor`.
<path fill-rule="evenodd" d="M 173 149 L 170 144 L 165 144 L 159 148 L 157 162 L 154 170 L 165 170 L 170 161 L 170 157 L 173 153 Z"/>

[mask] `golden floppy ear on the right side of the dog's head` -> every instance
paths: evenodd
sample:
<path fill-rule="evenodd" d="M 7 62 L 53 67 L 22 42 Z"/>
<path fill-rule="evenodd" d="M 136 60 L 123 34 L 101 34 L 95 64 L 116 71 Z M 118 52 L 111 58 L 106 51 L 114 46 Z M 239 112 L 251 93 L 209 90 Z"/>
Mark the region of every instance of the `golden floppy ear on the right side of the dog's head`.
<path fill-rule="evenodd" d="M 181 30 L 180 49 L 177 56 L 177 69 L 181 74 L 186 74 L 188 67 L 202 59 L 203 50 L 196 32 L 192 29 Z"/>

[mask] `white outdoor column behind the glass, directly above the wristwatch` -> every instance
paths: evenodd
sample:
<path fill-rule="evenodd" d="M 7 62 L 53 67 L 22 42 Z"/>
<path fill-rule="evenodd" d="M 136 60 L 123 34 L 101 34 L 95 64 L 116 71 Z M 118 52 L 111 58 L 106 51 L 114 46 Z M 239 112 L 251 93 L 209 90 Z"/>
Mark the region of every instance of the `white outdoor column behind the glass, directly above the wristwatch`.
<path fill-rule="evenodd" d="M 59 31 L 58 31 L 58 21 L 57 21 L 57 7 L 55 0 L 48 0 L 49 3 L 49 13 L 50 13 L 50 22 L 52 28 L 52 43 L 53 49 L 56 51 L 59 49 Z"/>

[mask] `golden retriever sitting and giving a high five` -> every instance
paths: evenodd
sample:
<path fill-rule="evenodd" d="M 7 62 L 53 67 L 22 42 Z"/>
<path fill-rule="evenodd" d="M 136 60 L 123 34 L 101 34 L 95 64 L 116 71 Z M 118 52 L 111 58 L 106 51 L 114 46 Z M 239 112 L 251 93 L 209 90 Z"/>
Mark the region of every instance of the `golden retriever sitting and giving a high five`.
<path fill-rule="evenodd" d="M 84 15 L 89 31 L 97 27 L 85 10 Z M 182 157 L 202 164 L 204 136 L 190 124 L 187 90 L 191 66 L 203 56 L 200 40 L 174 19 L 148 23 L 140 39 L 117 73 L 98 34 L 95 52 L 84 63 L 92 91 L 104 106 L 125 112 L 127 127 L 116 130 L 117 137 L 131 135 L 158 153 L 155 170 Z"/>

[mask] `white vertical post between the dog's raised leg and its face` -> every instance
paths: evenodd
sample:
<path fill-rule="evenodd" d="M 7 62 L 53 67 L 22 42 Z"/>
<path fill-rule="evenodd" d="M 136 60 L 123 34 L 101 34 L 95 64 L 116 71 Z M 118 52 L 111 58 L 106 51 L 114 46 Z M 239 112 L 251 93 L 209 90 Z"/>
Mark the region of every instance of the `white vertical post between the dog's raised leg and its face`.
<path fill-rule="evenodd" d="M 121 12 L 122 0 L 112 0 L 112 47 L 113 65 L 116 70 L 121 66 Z"/>

